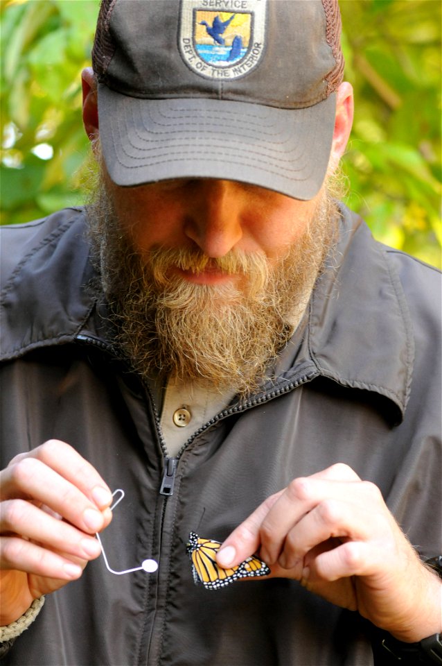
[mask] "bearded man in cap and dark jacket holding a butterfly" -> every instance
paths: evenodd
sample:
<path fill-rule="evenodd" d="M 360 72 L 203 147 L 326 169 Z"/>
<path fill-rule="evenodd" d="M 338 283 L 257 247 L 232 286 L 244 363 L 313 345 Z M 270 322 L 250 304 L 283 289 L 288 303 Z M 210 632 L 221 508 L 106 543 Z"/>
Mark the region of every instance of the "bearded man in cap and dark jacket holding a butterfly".
<path fill-rule="evenodd" d="M 91 201 L 4 230 L 4 663 L 441 663 L 440 276 L 333 198 L 339 33 L 103 0 Z"/>

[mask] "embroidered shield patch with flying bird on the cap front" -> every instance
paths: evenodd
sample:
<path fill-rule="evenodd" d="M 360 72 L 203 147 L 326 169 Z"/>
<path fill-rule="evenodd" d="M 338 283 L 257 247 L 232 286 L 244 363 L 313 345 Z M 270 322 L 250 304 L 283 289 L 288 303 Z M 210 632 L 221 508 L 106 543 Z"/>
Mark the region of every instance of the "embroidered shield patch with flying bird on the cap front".
<path fill-rule="evenodd" d="M 182 0 L 179 50 L 204 78 L 234 79 L 254 69 L 265 45 L 267 0 Z"/>

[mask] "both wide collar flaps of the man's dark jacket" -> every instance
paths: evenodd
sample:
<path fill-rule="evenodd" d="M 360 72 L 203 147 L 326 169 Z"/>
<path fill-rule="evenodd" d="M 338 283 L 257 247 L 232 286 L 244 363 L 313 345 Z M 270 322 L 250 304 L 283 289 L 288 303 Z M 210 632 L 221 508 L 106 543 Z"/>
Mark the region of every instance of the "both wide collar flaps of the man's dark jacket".
<path fill-rule="evenodd" d="M 107 343 L 90 289 L 94 270 L 85 216 L 74 213 L 60 217 L 1 292 L 1 359 L 78 339 Z M 281 353 L 277 382 L 293 382 L 301 371 L 321 375 L 342 386 L 375 391 L 403 415 L 413 359 L 412 325 L 398 276 L 362 219 L 342 206 L 339 244 L 303 323 Z"/>

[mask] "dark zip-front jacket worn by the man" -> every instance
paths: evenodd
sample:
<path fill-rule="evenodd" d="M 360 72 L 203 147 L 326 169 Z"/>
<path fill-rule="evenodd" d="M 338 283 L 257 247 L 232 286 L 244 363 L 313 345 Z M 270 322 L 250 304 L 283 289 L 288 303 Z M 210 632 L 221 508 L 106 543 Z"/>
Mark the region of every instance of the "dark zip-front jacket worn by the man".
<path fill-rule="evenodd" d="M 342 461 L 378 484 L 421 556 L 441 552 L 439 273 L 343 209 L 339 246 L 277 379 L 188 441 L 161 495 L 158 409 L 107 339 L 85 216 L 2 229 L 2 466 L 67 441 L 125 499 L 103 559 L 46 599 L 16 665 L 367 666 L 366 624 L 296 581 L 195 586 L 189 531 L 223 540 L 294 477 Z"/>

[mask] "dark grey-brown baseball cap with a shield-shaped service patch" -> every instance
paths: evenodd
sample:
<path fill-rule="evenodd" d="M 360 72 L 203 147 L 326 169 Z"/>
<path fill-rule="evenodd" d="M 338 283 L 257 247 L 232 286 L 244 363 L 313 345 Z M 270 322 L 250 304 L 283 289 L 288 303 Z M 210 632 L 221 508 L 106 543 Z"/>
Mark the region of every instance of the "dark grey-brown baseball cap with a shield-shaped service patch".
<path fill-rule="evenodd" d="M 103 0 L 92 65 L 109 176 L 312 198 L 333 139 L 340 32 L 337 0 Z"/>

